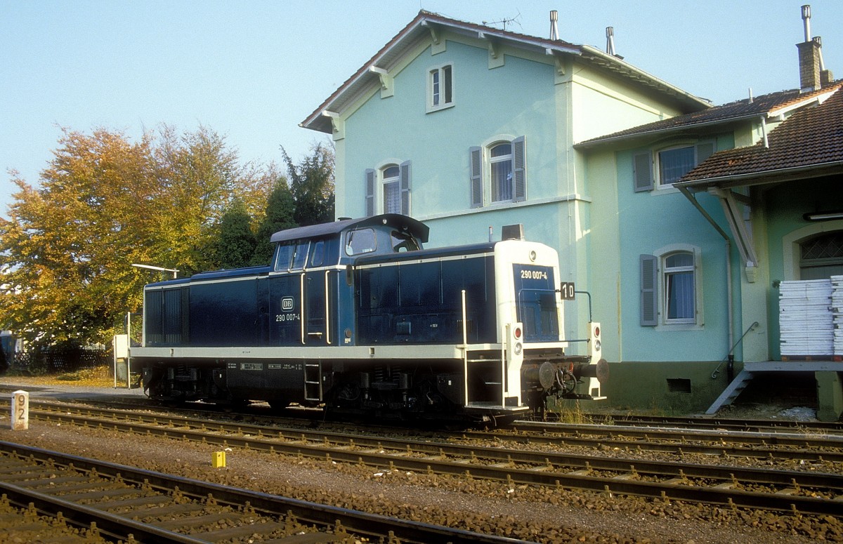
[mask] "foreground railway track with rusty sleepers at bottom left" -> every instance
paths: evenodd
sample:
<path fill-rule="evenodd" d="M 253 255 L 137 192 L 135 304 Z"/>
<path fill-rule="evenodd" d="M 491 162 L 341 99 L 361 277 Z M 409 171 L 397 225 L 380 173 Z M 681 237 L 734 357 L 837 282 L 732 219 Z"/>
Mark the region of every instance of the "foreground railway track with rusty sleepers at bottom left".
<path fill-rule="evenodd" d="M 518 542 L 0 441 L 0 492 L 107 540 Z M 6 523 L 8 526 L 8 522 Z M 396 540 L 397 539 L 397 540 Z"/>

